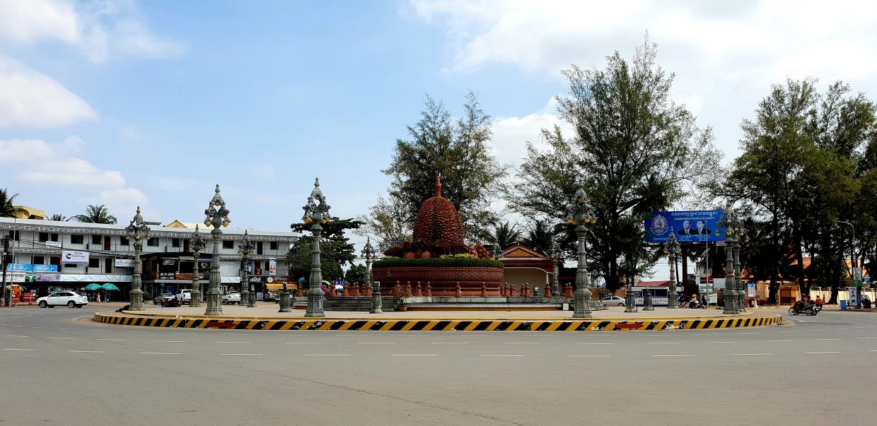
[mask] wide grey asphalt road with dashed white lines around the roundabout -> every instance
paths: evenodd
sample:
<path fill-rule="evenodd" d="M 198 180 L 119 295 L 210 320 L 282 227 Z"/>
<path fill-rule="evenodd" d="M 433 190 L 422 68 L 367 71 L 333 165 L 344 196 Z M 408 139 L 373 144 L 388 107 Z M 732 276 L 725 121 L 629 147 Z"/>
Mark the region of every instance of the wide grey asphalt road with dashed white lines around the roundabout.
<path fill-rule="evenodd" d="M 0 309 L 0 422 L 877 422 L 877 313 L 736 330 L 406 333 L 125 327 L 90 322 L 95 310 Z"/>

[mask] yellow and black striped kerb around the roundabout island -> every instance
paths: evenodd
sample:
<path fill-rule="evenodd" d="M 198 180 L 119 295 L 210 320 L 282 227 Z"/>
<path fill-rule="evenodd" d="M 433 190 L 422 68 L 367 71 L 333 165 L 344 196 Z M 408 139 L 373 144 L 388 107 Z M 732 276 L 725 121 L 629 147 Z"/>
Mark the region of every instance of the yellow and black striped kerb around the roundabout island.
<path fill-rule="evenodd" d="M 118 316 L 95 314 L 98 323 L 232 330 L 357 330 L 357 331 L 649 331 L 730 329 L 781 323 L 782 316 L 674 318 L 651 320 L 528 320 L 528 319 L 220 319 L 187 316 Z"/>

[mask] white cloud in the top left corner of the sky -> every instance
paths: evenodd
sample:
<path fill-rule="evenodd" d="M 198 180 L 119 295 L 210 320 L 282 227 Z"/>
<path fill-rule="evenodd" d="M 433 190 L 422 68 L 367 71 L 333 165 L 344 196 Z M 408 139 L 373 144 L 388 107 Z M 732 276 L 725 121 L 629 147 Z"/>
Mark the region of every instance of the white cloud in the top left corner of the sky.
<path fill-rule="evenodd" d="M 4 0 L 0 2 L 0 40 L 25 46 L 59 41 L 75 46 L 95 62 L 111 54 L 165 58 L 186 50 L 179 41 L 151 34 L 132 2 Z"/>

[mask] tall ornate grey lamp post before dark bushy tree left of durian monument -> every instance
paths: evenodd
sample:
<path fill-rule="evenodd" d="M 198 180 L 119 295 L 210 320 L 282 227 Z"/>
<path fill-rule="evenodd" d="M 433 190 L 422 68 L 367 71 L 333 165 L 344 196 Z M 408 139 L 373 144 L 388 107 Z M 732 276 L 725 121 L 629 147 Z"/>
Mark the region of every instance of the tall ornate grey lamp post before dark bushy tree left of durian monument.
<path fill-rule="evenodd" d="M 319 202 L 317 204 L 314 202 Z M 321 224 L 327 224 L 331 220 L 329 209 L 331 206 L 326 202 L 323 191 L 320 190 L 320 179 L 314 181 L 314 190 L 310 191 L 308 203 L 302 208 L 304 216 L 302 220 L 305 224 L 310 225 L 310 233 L 314 237 L 314 249 L 310 252 L 310 281 L 308 285 L 308 309 L 304 316 L 326 316 L 323 312 L 323 301 L 325 300 L 325 292 L 320 285 L 323 283 L 323 270 L 320 269 L 320 234 L 323 233 Z M 290 225 L 292 227 L 292 225 Z"/>

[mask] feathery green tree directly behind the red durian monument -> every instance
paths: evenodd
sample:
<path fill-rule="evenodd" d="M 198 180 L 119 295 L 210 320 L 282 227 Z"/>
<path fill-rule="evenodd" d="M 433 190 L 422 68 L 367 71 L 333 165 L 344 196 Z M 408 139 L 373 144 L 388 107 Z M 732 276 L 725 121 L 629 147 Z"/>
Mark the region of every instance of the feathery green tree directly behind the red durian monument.
<path fill-rule="evenodd" d="M 435 195 L 435 178 L 441 176 L 442 196 L 460 213 L 467 238 L 487 239 L 496 214 L 489 203 L 505 175 L 488 141 L 492 122 L 469 92 L 463 116 L 453 120 L 444 103 L 426 97 L 421 119 L 408 126 L 410 140 L 397 139 L 393 160 L 384 174 L 393 177 L 390 202 L 398 204 L 403 218 L 413 224 L 423 202 Z"/>

